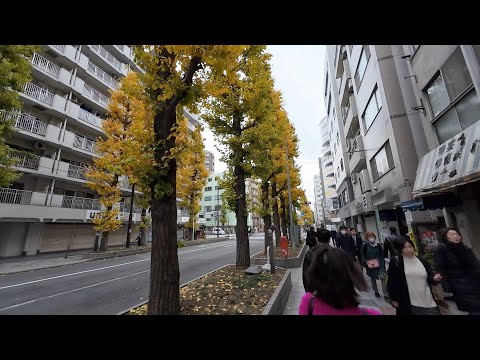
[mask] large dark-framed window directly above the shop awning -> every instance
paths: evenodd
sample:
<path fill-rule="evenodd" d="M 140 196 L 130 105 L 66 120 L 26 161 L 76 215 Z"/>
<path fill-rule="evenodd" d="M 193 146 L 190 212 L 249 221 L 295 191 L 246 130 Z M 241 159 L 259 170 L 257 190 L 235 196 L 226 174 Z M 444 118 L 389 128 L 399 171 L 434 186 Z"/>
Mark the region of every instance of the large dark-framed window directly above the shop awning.
<path fill-rule="evenodd" d="M 437 138 L 443 143 L 480 119 L 480 100 L 457 48 L 425 89 Z"/>

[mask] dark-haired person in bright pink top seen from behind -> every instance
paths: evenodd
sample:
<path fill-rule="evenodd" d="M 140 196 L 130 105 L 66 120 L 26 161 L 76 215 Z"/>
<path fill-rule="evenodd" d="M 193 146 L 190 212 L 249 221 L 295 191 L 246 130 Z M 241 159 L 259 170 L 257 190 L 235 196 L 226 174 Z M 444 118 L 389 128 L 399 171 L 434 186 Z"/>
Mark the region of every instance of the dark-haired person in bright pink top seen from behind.
<path fill-rule="evenodd" d="M 377 310 L 358 306 L 355 289 L 366 290 L 367 284 L 351 257 L 327 244 L 315 248 L 307 270 L 313 293 L 303 295 L 299 315 L 381 315 Z"/>

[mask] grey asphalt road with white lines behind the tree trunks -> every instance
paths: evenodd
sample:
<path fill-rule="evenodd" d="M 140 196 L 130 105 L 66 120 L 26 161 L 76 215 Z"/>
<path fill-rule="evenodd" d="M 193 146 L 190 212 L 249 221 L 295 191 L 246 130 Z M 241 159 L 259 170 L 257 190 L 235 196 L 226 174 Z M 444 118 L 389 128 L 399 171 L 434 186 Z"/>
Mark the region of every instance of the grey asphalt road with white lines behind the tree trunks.
<path fill-rule="evenodd" d="M 263 238 L 250 239 L 250 254 Z M 234 264 L 236 243 L 179 249 L 180 284 Z M 112 315 L 148 299 L 150 253 L 0 276 L 2 314 Z"/>

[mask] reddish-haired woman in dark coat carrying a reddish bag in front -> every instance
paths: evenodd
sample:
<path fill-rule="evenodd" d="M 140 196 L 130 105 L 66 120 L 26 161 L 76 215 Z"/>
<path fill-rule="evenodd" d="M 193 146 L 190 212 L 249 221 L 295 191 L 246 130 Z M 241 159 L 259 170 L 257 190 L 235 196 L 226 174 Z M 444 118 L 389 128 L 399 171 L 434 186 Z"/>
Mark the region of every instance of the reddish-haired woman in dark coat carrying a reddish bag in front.
<path fill-rule="evenodd" d="M 367 232 L 367 241 L 362 244 L 360 248 L 360 259 L 362 265 L 367 271 L 367 276 L 370 278 L 372 289 L 375 291 L 375 296 L 380 297 L 378 292 L 377 280 L 382 280 L 385 277 L 385 261 L 383 258 L 382 244 L 377 240 L 377 237 L 373 232 Z M 382 284 L 382 292 L 385 296 L 385 284 Z"/>

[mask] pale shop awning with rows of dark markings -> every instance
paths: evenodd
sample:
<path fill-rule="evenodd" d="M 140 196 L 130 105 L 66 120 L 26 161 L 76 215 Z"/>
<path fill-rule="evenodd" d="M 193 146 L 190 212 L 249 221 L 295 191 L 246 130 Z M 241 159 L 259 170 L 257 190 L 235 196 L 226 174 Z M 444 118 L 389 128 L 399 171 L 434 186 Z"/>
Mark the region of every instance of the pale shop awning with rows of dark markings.
<path fill-rule="evenodd" d="M 412 195 L 442 193 L 480 180 L 480 121 L 426 154 L 419 162 Z"/>

